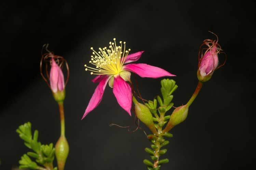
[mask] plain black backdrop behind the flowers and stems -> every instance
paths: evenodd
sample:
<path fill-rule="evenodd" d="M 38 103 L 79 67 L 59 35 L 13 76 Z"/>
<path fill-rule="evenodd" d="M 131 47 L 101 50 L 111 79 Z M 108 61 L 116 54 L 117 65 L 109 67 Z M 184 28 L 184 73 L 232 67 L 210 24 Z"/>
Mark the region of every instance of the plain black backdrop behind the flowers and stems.
<path fill-rule="evenodd" d="M 84 71 L 91 50 L 113 38 L 131 52 L 145 50 L 139 63 L 176 74 L 174 105 L 185 104 L 197 85 L 197 54 L 204 39 L 219 37 L 226 65 L 205 83 L 186 121 L 172 130 L 162 170 L 244 169 L 255 158 L 255 2 L 51 1 L 6 2 L 1 11 L 1 170 L 18 166 L 28 151 L 16 128 L 30 121 L 42 143 L 59 137 L 59 114 L 39 72 L 41 48 L 65 57 L 67 170 L 143 170 L 150 146 L 143 131 L 109 127 L 133 125 L 106 87 L 100 105 L 80 121 L 96 87 Z M 222 56 L 223 57 L 223 56 Z M 145 99 L 160 94 L 160 80 L 138 78 Z M 134 126 L 135 128 L 135 126 Z M 146 130 L 148 132 L 148 130 Z"/>

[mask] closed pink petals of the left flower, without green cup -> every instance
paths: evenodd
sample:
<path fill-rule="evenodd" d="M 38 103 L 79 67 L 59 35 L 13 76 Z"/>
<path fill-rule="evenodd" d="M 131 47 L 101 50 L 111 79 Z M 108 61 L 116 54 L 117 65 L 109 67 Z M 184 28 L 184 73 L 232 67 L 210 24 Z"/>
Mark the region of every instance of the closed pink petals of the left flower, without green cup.
<path fill-rule="evenodd" d="M 64 75 L 60 67 L 52 58 L 52 66 L 50 70 L 50 86 L 53 93 L 57 91 L 63 91 L 65 88 Z"/>

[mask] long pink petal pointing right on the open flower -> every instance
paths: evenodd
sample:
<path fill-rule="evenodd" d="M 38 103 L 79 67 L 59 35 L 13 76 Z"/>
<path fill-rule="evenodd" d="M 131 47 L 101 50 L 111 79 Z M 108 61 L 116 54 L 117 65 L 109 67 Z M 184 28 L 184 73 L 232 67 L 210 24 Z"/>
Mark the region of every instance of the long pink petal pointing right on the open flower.
<path fill-rule="evenodd" d="M 144 63 L 140 64 L 128 64 L 123 66 L 124 70 L 128 70 L 131 72 L 134 72 L 138 74 L 141 77 L 150 77 L 150 78 L 159 78 L 159 77 L 165 77 L 165 76 L 176 76 L 174 74 L 171 74 L 164 69 L 161 69 L 159 67 L 150 66 Z"/>

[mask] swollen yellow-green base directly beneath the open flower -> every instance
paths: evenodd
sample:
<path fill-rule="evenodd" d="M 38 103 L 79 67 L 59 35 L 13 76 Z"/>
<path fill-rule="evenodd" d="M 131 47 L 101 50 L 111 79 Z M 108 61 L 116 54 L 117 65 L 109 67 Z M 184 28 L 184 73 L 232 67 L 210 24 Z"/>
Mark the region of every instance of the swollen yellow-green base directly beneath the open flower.
<path fill-rule="evenodd" d="M 142 121 L 154 134 L 157 133 L 157 130 L 153 123 L 153 116 L 144 104 L 139 103 L 135 97 L 133 97 L 133 102 L 135 104 L 135 114 L 140 121 Z"/>

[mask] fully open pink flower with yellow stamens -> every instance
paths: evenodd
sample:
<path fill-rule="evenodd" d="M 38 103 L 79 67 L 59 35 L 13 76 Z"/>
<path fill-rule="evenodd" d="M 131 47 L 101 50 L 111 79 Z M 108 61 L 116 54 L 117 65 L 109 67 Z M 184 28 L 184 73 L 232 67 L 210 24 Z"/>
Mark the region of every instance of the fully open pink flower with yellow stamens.
<path fill-rule="evenodd" d="M 85 70 L 91 71 L 91 74 L 97 76 L 92 80 L 94 83 L 99 83 L 96 87 L 91 100 L 84 112 L 82 119 L 95 109 L 102 100 L 103 93 L 107 83 L 110 87 L 113 87 L 114 96 L 117 99 L 118 104 L 131 115 L 132 107 L 132 90 L 126 81 L 130 81 L 131 72 L 138 74 L 140 77 L 159 78 L 164 76 L 175 76 L 159 67 L 150 66 L 144 63 L 140 64 L 127 64 L 137 61 L 144 51 L 129 54 L 131 49 L 125 50 L 125 42 L 120 41 L 120 46 L 116 45 L 116 39 L 114 42 L 109 42 L 109 49 L 107 47 L 99 48 L 99 52 L 96 52 L 92 47 L 93 55 L 91 56 L 92 65 L 89 67 L 84 65 Z M 122 50 L 124 46 L 124 49 Z"/>

